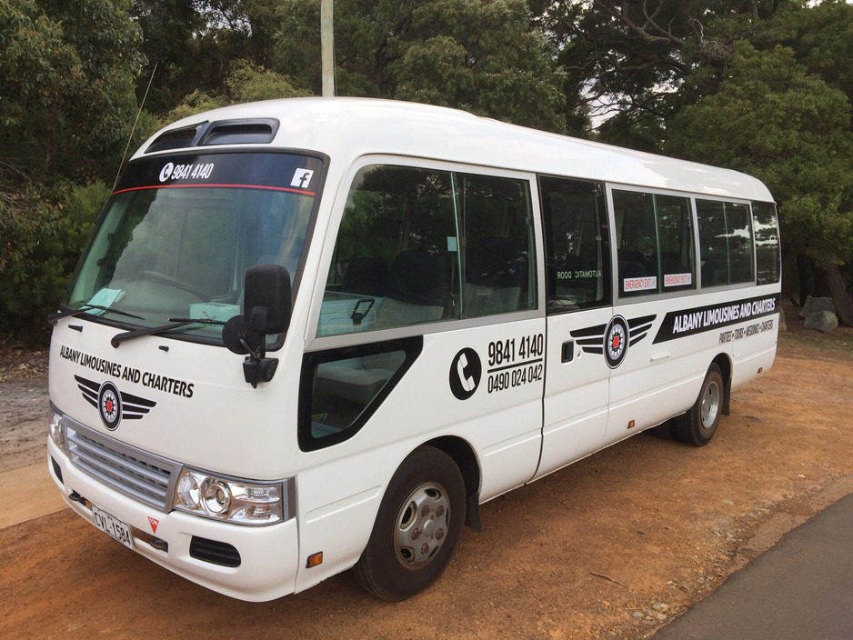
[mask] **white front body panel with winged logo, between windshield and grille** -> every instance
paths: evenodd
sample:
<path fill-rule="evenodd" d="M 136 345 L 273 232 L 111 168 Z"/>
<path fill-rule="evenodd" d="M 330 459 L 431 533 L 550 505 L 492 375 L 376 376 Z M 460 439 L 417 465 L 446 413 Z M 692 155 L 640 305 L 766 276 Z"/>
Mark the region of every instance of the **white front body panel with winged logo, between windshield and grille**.
<path fill-rule="evenodd" d="M 84 329 L 75 331 L 68 325 L 84 325 Z M 284 418 L 287 407 L 296 405 L 296 386 L 287 385 L 285 375 L 273 384 L 252 389 L 243 379 L 243 356 L 163 337 L 139 338 L 113 348 L 109 341 L 118 333 L 115 328 L 75 319 L 55 328 L 50 348 L 50 397 L 65 415 L 109 435 L 95 408 L 85 402 L 74 376 L 98 383 L 108 378 L 123 392 L 156 402 L 144 420 L 125 421 L 116 431 L 114 435 L 120 435 L 127 445 L 186 465 L 258 480 L 279 479 L 283 464 L 296 465 L 291 445 L 296 428 L 292 420 Z M 298 375 L 299 346 L 288 343 L 283 350 L 281 366 L 292 365 L 289 376 Z M 61 356 L 63 348 L 75 359 Z M 287 357 L 290 348 L 297 351 Z M 138 371 L 139 382 L 92 368 L 100 363 L 121 367 L 123 374 Z M 192 395 L 156 388 L 156 381 L 164 385 L 164 378 L 186 383 L 185 389 L 192 385 L 191 392 L 186 391 Z M 178 385 L 173 383 L 172 388 Z"/>

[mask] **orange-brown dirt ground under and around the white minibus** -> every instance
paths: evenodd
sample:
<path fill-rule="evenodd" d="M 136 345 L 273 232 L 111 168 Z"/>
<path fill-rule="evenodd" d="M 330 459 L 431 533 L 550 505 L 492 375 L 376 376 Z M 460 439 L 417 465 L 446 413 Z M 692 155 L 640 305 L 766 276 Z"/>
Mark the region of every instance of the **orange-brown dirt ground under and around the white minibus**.
<path fill-rule="evenodd" d="M 344 574 L 238 602 L 65 510 L 0 530 L 0 637 L 649 637 L 853 493 L 853 330 L 818 334 L 786 311 L 776 365 L 736 390 L 711 444 L 639 435 L 493 500 L 485 532 L 465 530 L 412 600 L 380 602 Z M 2 471 L 44 460 L 44 360 L 0 349 Z"/>

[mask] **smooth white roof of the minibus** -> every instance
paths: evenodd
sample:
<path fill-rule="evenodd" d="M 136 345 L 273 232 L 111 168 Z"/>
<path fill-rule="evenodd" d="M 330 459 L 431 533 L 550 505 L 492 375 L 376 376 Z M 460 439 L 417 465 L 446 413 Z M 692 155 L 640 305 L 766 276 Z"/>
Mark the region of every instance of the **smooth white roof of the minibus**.
<path fill-rule="evenodd" d="M 159 153 L 161 148 L 173 152 L 195 148 L 157 141 L 174 139 L 176 132 L 200 130 L 206 123 L 261 120 L 277 121 L 268 140 L 223 145 L 222 139 L 216 148 L 310 150 L 347 164 L 368 154 L 404 155 L 699 195 L 773 200 L 761 181 L 730 169 L 507 125 L 446 107 L 370 98 L 288 98 L 226 106 L 168 125 L 134 157 Z"/>

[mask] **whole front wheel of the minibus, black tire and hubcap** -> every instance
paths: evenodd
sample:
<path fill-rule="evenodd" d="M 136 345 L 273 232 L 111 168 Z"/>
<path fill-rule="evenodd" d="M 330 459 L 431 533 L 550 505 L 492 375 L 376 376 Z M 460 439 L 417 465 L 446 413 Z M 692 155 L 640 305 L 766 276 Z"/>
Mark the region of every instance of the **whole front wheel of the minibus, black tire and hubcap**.
<path fill-rule="evenodd" d="M 416 449 L 382 498 L 356 565 L 358 582 L 391 602 L 435 583 L 456 550 L 465 507 L 465 481 L 453 459 L 433 447 Z"/>

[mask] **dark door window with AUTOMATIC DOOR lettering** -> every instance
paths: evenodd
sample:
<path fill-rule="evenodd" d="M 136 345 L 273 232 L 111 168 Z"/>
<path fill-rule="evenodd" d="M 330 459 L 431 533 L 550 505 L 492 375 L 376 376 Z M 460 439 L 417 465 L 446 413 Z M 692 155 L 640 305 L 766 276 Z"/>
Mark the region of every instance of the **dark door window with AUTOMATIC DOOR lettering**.
<path fill-rule="evenodd" d="M 547 312 L 610 304 L 607 206 L 602 185 L 540 177 L 547 252 Z"/>

